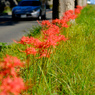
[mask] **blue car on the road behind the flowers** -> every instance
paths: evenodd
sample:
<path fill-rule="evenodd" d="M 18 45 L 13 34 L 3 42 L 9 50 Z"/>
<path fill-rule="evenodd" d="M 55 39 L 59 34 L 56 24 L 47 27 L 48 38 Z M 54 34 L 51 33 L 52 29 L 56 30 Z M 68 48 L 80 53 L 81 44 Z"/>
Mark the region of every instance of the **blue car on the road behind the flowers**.
<path fill-rule="evenodd" d="M 39 0 L 22 0 L 12 9 L 12 19 L 16 18 L 46 18 L 46 4 Z"/>

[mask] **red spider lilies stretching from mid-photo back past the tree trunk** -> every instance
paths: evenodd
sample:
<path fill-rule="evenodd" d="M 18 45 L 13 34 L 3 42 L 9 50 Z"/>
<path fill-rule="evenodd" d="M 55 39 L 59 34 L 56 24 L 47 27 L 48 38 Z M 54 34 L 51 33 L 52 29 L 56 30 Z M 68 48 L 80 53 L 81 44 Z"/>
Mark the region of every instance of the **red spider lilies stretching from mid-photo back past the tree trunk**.
<path fill-rule="evenodd" d="M 79 11 L 81 9 L 82 9 L 81 6 L 77 6 L 77 9 L 75 10 L 77 11 L 76 13 L 79 14 Z M 18 43 L 31 45 L 30 48 L 27 48 L 24 51 L 26 52 L 27 55 L 28 54 L 36 55 L 38 53 L 40 54 L 40 57 L 43 56 L 45 57 L 46 55 L 49 55 L 49 53 L 47 54 L 46 51 L 48 51 L 48 49 L 51 46 L 55 47 L 56 45 L 58 45 L 60 41 L 67 40 L 67 38 L 65 38 L 64 35 L 60 34 L 60 29 L 62 27 L 65 28 L 69 27 L 67 22 L 70 21 L 71 19 L 75 19 L 77 17 L 77 14 L 74 14 L 73 10 L 68 10 L 64 13 L 62 19 L 52 20 L 52 23 L 49 22 L 48 20 L 44 20 L 41 23 L 38 22 L 40 25 L 42 25 L 42 27 L 46 27 L 45 29 L 43 28 L 42 30 L 43 33 L 42 41 L 34 37 L 29 38 L 23 36 Z"/>

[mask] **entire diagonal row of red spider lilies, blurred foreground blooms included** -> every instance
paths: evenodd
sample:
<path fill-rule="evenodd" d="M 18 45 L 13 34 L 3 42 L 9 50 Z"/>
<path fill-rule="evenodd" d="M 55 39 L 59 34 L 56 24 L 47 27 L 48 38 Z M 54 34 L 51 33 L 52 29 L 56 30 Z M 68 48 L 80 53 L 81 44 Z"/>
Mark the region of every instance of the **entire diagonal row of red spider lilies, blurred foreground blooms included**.
<path fill-rule="evenodd" d="M 16 43 L 23 44 L 26 47 L 25 50 L 20 51 L 26 53 L 26 64 L 28 64 L 28 70 L 30 55 L 33 55 L 33 58 L 36 59 L 49 58 L 50 55 L 53 53 L 53 48 L 56 48 L 56 46 L 59 45 L 60 42 L 65 42 L 68 40 L 68 38 L 62 35 L 61 30 L 62 28 L 68 28 L 68 22 L 72 19 L 77 18 L 81 10 L 82 7 L 77 6 L 74 11 L 66 11 L 61 19 L 55 19 L 51 22 L 45 20 L 39 23 L 42 26 L 42 37 L 39 39 L 23 36 L 20 41 L 15 41 Z M 42 60 L 41 65 L 39 65 L 41 72 L 44 75 L 46 75 L 47 70 L 46 65 L 43 65 L 45 63 Z M 23 79 L 20 78 L 18 74 L 19 69 L 23 66 L 24 63 L 21 62 L 17 57 L 12 57 L 9 55 L 6 55 L 4 61 L 0 62 L 0 95 L 19 95 L 22 90 L 25 90 L 26 87 Z M 37 70 L 37 68 L 35 69 Z M 40 74 L 40 77 L 41 76 L 42 75 Z"/>

